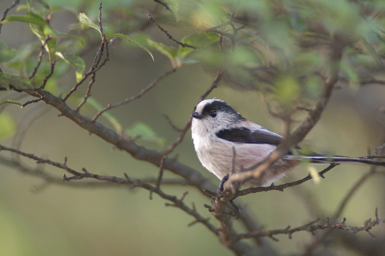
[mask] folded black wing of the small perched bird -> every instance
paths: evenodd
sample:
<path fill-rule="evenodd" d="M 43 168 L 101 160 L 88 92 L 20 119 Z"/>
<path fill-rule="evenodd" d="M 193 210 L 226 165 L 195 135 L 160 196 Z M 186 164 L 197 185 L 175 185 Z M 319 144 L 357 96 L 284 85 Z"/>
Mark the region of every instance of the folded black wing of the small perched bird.
<path fill-rule="evenodd" d="M 278 146 L 283 137 L 268 130 L 251 131 L 247 128 L 225 129 L 216 133 L 216 136 L 224 140 L 237 143 L 270 144 Z"/>

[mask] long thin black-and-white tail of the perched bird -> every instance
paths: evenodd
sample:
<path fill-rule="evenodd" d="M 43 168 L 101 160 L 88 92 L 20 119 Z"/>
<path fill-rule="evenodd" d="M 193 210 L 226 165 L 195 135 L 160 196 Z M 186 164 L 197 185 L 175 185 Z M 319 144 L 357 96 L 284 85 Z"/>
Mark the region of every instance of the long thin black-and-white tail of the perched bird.
<path fill-rule="evenodd" d="M 350 157 L 350 156 L 326 156 L 326 155 L 306 155 L 306 156 L 289 156 L 289 158 L 308 161 L 309 163 L 362 163 L 367 165 L 385 166 L 385 161 L 377 161 L 367 159 L 365 157 Z"/>

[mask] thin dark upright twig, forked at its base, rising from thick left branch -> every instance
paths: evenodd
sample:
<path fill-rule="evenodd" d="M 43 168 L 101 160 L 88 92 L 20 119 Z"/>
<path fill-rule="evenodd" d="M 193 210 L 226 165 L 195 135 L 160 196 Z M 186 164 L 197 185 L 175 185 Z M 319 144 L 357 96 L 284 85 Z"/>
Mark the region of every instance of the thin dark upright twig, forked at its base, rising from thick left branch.
<path fill-rule="evenodd" d="M 109 61 L 108 42 L 106 40 L 105 34 L 103 32 L 103 27 L 102 27 L 102 3 L 99 4 L 99 30 L 100 30 L 100 35 L 102 37 L 102 43 L 99 47 L 97 54 L 95 55 L 95 59 L 94 59 L 94 62 L 92 63 L 90 70 L 84 74 L 82 79 L 76 85 L 74 85 L 74 87 L 72 87 L 72 89 L 63 98 L 63 101 L 66 101 L 69 98 L 69 96 L 71 96 L 72 93 L 74 93 L 74 91 L 77 90 L 79 85 L 81 85 L 87 79 L 87 77 L 92 74 L 93 80 L 91 80 L 90 83 L 88 84 L 87 93 L 82 99 L 82 102 L 77 107 L 77 110 L 79 110 L 79 108 L 85 103 L 85 101 L 87 101 L 87 98 L 90 96 L 91 86 L 95 81 L 96 71 L 98 71 L 102 66 L 105 65 L 105 63 L 107 63 L 107 61 Z M 105 58 L 103 62 L 99 65 L 100 61 L 102 60 L 104 48 L 105 48 Z"/>

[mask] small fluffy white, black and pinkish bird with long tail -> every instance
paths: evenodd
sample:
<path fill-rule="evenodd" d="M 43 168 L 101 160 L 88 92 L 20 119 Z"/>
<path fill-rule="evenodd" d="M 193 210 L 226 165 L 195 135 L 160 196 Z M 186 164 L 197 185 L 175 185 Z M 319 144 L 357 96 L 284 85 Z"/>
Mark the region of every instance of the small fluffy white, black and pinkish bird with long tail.
<path fill-rule="evenodd" d="M 283 141 L 282 136 L 246 120 L 226 102 L 218 99 L 203 100 L 196 105 L 192 113 L 191 134 L 199 161 L 222 180 L 222 186 L 233 168 L 234 172 L 239 172 L 254 166 Z M 288 152 L 264 175 L 246 181 L 243 186 L 255 188 L 270 185 L 301 160 L 310 163 L 356 162 L 385 166 L 385 162 L 363 157 L 303 154 L 298 145 L 293 150 L 297 152 Z"/>

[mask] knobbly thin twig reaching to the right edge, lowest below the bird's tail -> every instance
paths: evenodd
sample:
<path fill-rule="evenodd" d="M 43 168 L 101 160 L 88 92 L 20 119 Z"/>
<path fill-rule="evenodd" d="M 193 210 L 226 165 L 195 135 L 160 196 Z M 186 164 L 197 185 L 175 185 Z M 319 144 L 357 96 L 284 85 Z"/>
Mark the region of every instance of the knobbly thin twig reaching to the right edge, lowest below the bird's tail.
<path fill-rule="evenodd" d="M 362 227 L 347 226 L 345 224 L 346 218 L 343 218 L 342 222 L 334 223 L 334 224 L 330 224 L 329 218 L 327 218 L 326 219 L 326 224 L 324 224 L 324 225 L 313 225 L 314 223 L 319 221 L 319 219 L 316 219 L 315 221 L 311 221 L 310 223 L 307 223 L 307 224 L 305 224 L 303 226 L 298 226 L 296 228 L 290 228 L 290 226 L 288 226 L 287 228 L 284 228 L 284 229 L 273 229 L 273 230 L 269 230 L 269 231 L 256 231 L 256 232 L 250 232 L 250 233 L 247 233 L 247 234 L 240 234 L 238 236 L 238 239 L 251 238 L 251 237 L 261 237 L 261 236 L 269 236 L 270 238 L 278 241 L 278 239 L 273 238 L 273 235 L 276 235 L 276 234 L 288 234 L 289 238 L 291 238 L 291 235 L 293 233 L 297 232 L 297 231 L 308 231 L 311 234 L 315 234 L 314 231 L 316 231 L 318 229 L 337 229 L 337 230 L 346 230 L 346 231 L 352 230 L 353 234 L 356 234 L 357 232 L 360 232 L 360 231 L 367 231 L 367 233 L 370 234 L 370 236 L 373 236 L 373 234 L 370 232 L 370 229 L 372 229 L 372 227 L 374 227 L 374 226 L 376 226 L 378 224 L 384 223 L 384 220 L 378 218 L 378 209 L 377 208 L 375 210 L 375 217 L 376 218 L 373 221 L 372 221 L 371 218 L 368 219 L 367 221 L 365 221 L 365 225 L 362 226 Z"/>

